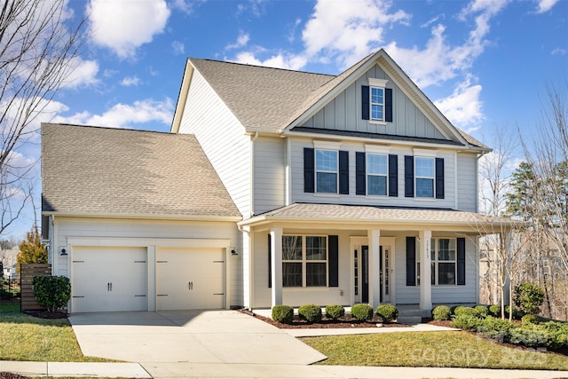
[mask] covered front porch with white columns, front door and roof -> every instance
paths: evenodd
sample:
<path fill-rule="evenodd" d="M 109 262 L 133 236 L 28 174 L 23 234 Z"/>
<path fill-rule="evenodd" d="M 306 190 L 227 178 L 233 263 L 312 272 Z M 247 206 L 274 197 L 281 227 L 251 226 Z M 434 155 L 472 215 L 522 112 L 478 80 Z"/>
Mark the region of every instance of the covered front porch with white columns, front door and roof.
<path fill-rule="evenodd" d="M 245 306 L 390 303 L 430 311 L 435 303 L 477 303 L 477 239 L 500 233 L 497 221 L 454 210 L 334 204 L 251 217 L 240 225 L 249 241 Z"/>

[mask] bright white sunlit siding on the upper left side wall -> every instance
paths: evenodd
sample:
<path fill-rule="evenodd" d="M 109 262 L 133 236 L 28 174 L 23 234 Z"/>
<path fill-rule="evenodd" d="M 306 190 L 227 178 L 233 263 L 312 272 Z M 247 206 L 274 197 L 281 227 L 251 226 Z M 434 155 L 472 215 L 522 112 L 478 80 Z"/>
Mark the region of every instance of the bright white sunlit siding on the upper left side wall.
<path fill-rule="evenodd" d="M 194 134 L 241 215 L 250 214 L 250 138 L 198 70 L 193 77 L 179 133 Z"/>

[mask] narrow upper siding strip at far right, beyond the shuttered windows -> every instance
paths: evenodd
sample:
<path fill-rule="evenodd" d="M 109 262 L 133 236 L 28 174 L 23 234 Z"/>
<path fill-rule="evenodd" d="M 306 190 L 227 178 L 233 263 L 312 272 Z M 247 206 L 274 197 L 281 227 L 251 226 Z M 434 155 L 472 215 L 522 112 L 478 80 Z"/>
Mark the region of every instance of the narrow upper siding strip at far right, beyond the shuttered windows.
<path fill-rule="evenodd" d="M 477 212 L 477 155 L 457 154 L 458 209 Z"/>

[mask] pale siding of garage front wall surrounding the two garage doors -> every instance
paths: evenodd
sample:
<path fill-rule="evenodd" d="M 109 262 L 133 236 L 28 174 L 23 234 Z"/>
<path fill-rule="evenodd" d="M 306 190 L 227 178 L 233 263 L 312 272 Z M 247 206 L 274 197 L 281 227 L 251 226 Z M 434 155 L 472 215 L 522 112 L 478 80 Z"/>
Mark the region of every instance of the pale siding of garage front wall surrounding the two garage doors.
<path fill-rule="evenodd" d="M 140 238 L 156 239 L 196 239 L 196 240 L 231 240 L 232 246 L 241 243 L 241 233 L 234 223 L 221 222 L 184 222 L 184 221 L 149 221 L 138 219 L 105 219 L 105 218 L 75 218 L 56 217 L 55 233 L 58 240 L 55 243 L 57 252 L 57 272 L 54 275 L 69 276 L 68 265 L 70 255 L 60 256 L 61 248 L 70 252 L 67 238 Z M 231 305 L 242 305 L 242 256 L 229 255 L 231 275 Z"/>

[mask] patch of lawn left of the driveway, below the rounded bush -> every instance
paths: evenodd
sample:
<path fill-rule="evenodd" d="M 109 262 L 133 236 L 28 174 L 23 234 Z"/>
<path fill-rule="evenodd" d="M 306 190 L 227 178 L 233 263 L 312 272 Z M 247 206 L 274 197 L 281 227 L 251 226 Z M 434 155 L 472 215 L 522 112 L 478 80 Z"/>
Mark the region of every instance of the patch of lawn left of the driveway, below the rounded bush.
<path fill-rule="evenodd" d="M 83 356 L 67 320 L 43 320 L 17 312 L 0 314 L 0 360 L 109 361 Z"/>

